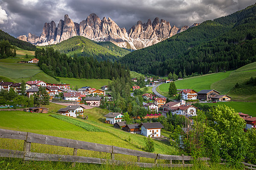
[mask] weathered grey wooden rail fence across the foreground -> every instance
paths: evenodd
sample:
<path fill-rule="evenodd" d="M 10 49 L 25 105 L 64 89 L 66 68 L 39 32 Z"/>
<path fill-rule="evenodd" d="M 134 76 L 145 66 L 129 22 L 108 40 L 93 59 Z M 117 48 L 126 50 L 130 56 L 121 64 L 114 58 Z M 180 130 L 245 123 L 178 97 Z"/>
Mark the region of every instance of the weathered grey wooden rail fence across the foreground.
<path fill-rule="evenodd" d="M 52 161 L 52 162 L 73 162 L 75 163 L 92 163 L 92 164 L 134 164 L 139 167 L 191 167 L 193 164 L 187 164 L 189 160 L 193 160 L 192 156 L 177 156 L 177 155 L 163 155 L 163 154 L 154 154 L 150 152 L 143 152 L 137 150 L 131 150 L 127 148 L 121 148 L 117 146 L 102 145 L 98 143 L 77 141 L 74 139 L 65 139 L 59 137 L 52 137 L 48 135 L 35 134 L 23 131 L 14 131 L 0 129 L 0 138 L 9 138 L 9 139 L 20 139 L 24 140 L 23 151 L 17 150 L 6 150 L 0 149 L 0 157 L 7 158 L 22 158 L 24 161 L 33 160 L 33 161 Z M 31 143 L 40 143 L 44 145 L 52 146 L 61 146 L 73 148 L 73 155 L 57 155 L 57 154 L 43 154 L 38 152 L 31 152 Z M 81 150 L 90 150 L 98 152 L 106 152 L 111 155 L 111 159 L 101 159 L 101 158 L 89 158 L 85 156 L 77 156 L 77 149 Z M 121 160 L 115 160 L 115 154 L 131 155 L 137 156 L 137 162 L 125 162 Z M 154 159 L 154 163 L 142 163 L 141 157 Z M 168 160 L 168 164 L 159 164 L 158 160 Z M 172 164 L 172 160 L 180 160 L 180 164 Z M 210 158 L 200 158 L 200 160 L 210 160 Z M 245 163 L 247 164 L 247 163 Z M 251 165 L 250 169 L 253 166 Z"/>

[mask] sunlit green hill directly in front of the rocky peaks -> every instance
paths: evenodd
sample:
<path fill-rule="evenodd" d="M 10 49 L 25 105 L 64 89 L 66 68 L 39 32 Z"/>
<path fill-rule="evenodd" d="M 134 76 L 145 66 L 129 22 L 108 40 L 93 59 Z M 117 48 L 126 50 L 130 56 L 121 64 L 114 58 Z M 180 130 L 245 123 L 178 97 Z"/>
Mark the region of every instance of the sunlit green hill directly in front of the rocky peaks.
<path fill-rule="evenodd" d="M 73 56 L 93 57 L 98 61 L 115 61 L 129 53 L 112 42 L 95 42 L 82 36 L 75 36 L 56 45 L 48 45 L 60 53 Z"/>

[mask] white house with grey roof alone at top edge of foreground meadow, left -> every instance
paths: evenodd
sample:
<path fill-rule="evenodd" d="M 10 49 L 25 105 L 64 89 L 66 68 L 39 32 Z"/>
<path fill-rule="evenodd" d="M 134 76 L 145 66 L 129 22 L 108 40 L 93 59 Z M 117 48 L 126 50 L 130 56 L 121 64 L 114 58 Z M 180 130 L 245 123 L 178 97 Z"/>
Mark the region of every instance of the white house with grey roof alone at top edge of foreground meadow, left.
<path fill-rule="evenodd" d="M 81 105 L 69 105 L 66 108 L 59 109 L 58 113 L 72 117 L 82 116 L 84 114 L 84 107 Z"/>

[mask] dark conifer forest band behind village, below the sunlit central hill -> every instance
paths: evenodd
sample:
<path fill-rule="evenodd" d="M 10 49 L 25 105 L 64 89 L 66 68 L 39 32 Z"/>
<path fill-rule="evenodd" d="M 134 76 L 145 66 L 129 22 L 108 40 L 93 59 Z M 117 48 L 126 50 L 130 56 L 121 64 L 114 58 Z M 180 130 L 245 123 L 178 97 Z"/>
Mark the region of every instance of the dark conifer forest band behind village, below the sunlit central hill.
<path fill-rule="evenodd" d="M 70 57 L 53 48 L 42 48 L 35 51 L 39 67 L 50 76 L 69 78 L 112 79 L 123 77 L 130 81 L 130 71 L 120 63 L 101 61 L 93 57 Z"/>

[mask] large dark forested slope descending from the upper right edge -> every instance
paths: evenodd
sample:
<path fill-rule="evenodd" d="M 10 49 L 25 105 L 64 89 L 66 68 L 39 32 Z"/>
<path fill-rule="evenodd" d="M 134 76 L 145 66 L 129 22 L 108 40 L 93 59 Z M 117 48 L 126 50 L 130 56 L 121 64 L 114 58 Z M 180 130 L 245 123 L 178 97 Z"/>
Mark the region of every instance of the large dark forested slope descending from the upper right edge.
<path fill-rule="evenodd" d="M 208 20 L 156 45 L 121 58 L 130 70 L 168 75 L 237 69 L 256 57 L 256 5 Z"/>

